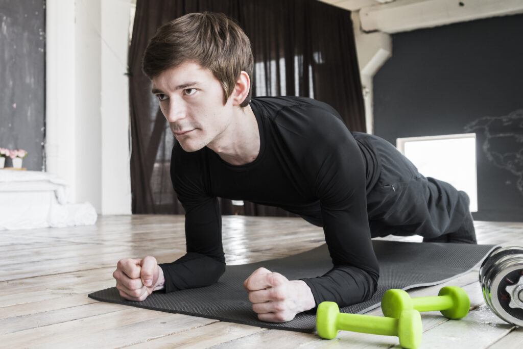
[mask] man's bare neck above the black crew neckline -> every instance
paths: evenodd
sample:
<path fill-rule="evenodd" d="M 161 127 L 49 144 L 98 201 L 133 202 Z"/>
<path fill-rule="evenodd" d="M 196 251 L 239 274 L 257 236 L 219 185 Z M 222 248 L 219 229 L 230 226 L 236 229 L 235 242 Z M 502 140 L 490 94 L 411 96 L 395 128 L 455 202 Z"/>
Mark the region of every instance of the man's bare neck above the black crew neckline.
<path fill-rule="evenodd" d="M 208 147 L 225 162 L 240 166 L 253 162 L 259 154 L 258 122 L 251 106 L 234 110 L 234 118 L 219 141 Z"/>

